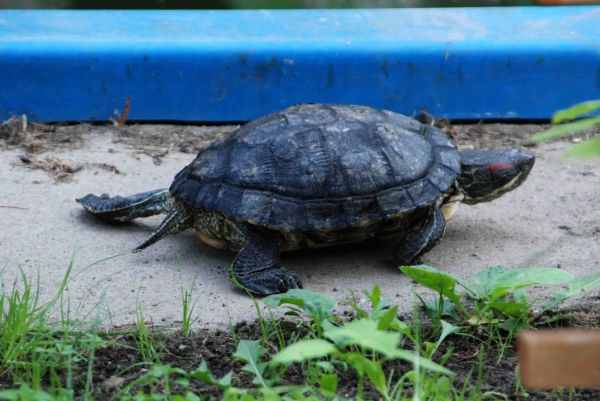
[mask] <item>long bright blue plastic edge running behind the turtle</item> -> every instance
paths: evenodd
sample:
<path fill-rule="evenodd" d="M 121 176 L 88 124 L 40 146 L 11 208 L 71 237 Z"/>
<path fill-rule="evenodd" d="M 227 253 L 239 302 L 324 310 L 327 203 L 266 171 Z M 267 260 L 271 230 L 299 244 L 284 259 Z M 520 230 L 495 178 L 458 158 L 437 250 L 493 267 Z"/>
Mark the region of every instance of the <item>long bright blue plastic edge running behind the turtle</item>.
<path fill-rule="evenodd" d="M 245 121 L 303 102 L 548 119 L 600 99 L 600 7 L 1 11 L 0 118 Z"/>

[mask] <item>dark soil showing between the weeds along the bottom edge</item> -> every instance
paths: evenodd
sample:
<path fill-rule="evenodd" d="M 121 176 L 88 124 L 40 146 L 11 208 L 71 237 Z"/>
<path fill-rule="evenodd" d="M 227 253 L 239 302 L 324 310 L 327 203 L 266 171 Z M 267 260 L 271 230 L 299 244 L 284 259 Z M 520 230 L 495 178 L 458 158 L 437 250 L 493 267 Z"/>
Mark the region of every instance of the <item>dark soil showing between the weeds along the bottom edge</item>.
<path fill-rule="evenodd" d="M 587 308 L 580 312 L 593 313 L 596 316 L 599 313 L 597 307 L 594 307 L 594 309 Z M 562 327 L 580 327 L 581 325 L 589 327 L 589 322 L 585 319 L 580 321 L 577 313 L 576 311 L 571 313 L 567 319 L 561 320 L 559 324 Z M 279 321 L 279 325 L 282 328 L 286 342 L 289 341 L 292 335 L 298 334 L 297 322 Z M 598 327 L 597 320 L 594 327 Z M 230 332 L 214 330 L 199 331 L 188 337 L 172 333 L 164 334 L 164 332 L 161 334 L 160 331 L 156 332 L 152 329 L 150 329 L 150 332 L 153 333 L 151 342 L 156 347 L 159 355 L 158 359 L 162 364 L 168 364 L 186 371 L 194 371 L 204 361 L 214 377 L 221 378 L 229 372 L 233 372 L 234 387 L 256 388 L 256 385 L 252 383 L 253 376 L 241 371 L 244 363 L 235 360 L 232 355 L 236 350 L 236 341 L 262 339 L 262 331 L 257 322 L 250 324 L 246 322 L 238 323 L 234 328 L 235 339 Z M 299 334 L 302 336 L 306 335 L 307 332 L 301 329 Z M 268 341 L 267 346 L 270 352 L 276 352 L 278 341 L 275 335 L 269 337 Z M 504 343 L 504 347 L 500 346 L 501 342 Z M 580 389 L 574 393 L 569 391 L 563 393 L 558 391 L 533 391 L 526 394 L 517 382 L 518 359 L 515 342 L 514 339 L 507 339 L 503 336 L 490 339 L 478 333 L 476 329 L 470 332 L 466 330 L 463 335 L 452 335 L 446 338 L 438 349 L 436 354 L 438 357 L 435 360 L 440 362 L 440 358 L 446 352 L 451 352 L 445 366 L 456 374 L 453 378 L 454 387 L 458 390 L 462 389 L 463 386 L 466 387 L 468 389 L 466 391 L 467 396 L 473 394 L 475 391 L 474 385 L 479 382 L 481 393 L 503 394 L 509 400 L 600 399 L 600 388 Z M 407 349 L 411 349 L 411 347 L 409 346 Z M 100 401 L 109 400 L 120 394 L 121 389 L 148 373 L 149 364 L 147 362 L 138 351 L 138 345 L 131 334 L 116 337 L 111 345 L 99 348 L 96 351 L 92 368 L 95 399 Z M 152 362 L 156 362 L 156 360 Z M 130 366 L 131 369 L 123 372 L 125 368 Z M 386 377 L 392 375 L 392 382 L 398 381 L 411 369 L 412 366 L 405 362 L 388 362 L 384 364 Z M 58 373 L 61 375 L 66 374 L 66 372 Z M 336 369 L 336 373 L 339 378 L 337 393 L 345 398 L 355 398 L 358 383 L 356 374 L 353 371 L 345 371 L 341 368 Z M 76 364 L 74 376 L 76 378 L 73 383 L 75 395 L 83 395 L 87 377 L 87 363 L 85 360 Z M 479 380 L 479 376 L 482 377 L 482 380 Z M 6 381 L 5 379 L 0 377 L 0 388 L 11 388 L 12 381 Z M 307 380 L 309 378 L 304 376 L 302 366 L 294 364 L 287 369 L 285 375 L 276 385 L 302 385 Z M 178 387 L 173 383 L 170 384 L 170 388 L 174 393 L 178 391 Z M 410 389 L 410 387 L 407 387 L 407 389 Z M 134 386 L 131 394 L 136 394 L 138 390 L 148 393 L 150 388 L 148 385 Z M 196 394 L 202 394 L 207 399 L 220 399 L 223 395 L 223 392 L 217 387 L 197 380 L 192 381 L 190 390 Z M 154 388 L 154 391 L 160 392 L 162 387 L 158 385 Z M 364 397 L 373 400 L 381 398 L 379 392 L 368 380 L 365 383 Z"/>

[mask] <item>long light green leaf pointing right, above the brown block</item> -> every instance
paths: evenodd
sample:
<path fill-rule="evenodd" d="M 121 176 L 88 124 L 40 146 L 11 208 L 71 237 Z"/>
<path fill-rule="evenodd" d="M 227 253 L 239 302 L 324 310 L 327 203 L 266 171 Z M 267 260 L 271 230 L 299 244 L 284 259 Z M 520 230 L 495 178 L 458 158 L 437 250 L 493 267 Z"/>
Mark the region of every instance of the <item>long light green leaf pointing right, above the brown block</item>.
<path fill-rule="evenodd" d="M 561 284 L 572 280 L 567 271 L 552 268 L 525 268 L 508 270 L 494 277 L 490 283 L 491 301 L 495 301 L 508 292 L 537 284 Z"/>

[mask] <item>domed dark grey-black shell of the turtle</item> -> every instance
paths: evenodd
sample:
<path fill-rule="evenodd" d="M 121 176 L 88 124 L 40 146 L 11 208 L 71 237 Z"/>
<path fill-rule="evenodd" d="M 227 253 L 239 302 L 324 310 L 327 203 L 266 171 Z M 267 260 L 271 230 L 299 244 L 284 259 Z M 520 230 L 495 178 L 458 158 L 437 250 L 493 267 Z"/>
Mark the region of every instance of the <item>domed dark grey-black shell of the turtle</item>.
<path fill-rule="evenodd" d="M 363 106 L 301 104 L 204 148 L 170 192 L 194 210 L 284 231 L 400 216 L 439 199 L 460 172 L 440 130 Z"/>

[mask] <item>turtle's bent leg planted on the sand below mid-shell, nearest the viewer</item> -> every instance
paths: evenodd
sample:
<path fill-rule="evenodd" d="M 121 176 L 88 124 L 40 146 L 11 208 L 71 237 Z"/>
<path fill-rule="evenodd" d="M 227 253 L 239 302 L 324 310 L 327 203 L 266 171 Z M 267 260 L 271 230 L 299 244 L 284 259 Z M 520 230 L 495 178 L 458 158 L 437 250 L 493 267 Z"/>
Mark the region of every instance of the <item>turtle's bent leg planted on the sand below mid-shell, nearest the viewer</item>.
<path fill-rule="evenodd" d="M 250 230 L 249 230 L 250 231 Z M 231 265 L 231 277 L 248 291 L 260 295 L 302 288 L 300 277 L 279 266 L 280 239 L 275 234 L 248 233 L 249 241 Z"/>

